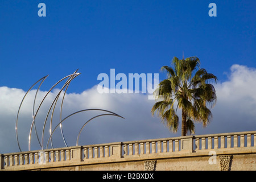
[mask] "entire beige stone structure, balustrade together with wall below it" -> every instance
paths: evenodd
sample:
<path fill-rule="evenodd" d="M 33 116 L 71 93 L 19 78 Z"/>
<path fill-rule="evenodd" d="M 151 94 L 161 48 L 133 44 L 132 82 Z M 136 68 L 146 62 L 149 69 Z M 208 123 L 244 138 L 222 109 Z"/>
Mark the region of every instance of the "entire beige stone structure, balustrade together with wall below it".
<path fill-rule="evenodd" d="M 1 170 L 256 170 L 256 131 L 1 154 Z"/>

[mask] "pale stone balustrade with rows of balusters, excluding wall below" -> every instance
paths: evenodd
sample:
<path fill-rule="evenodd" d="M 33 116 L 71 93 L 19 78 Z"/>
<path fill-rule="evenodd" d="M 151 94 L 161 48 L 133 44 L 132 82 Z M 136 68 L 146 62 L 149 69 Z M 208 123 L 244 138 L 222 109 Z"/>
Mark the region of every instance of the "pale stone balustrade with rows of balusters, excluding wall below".
<path fill-rule="evenodd" d="M 256 148 L 256 131 L 191 135 L 186 137 L 138 140 L 53 148 L 50 150 L 0 154 L 1 169 L 36 169 L 42 167 L 75 166 L 90 163 L 108 163 L 181 154 L 199 155 L 210 150 L 232 151 Z M 42 166 L 42 164 L 45 164 Z"/>

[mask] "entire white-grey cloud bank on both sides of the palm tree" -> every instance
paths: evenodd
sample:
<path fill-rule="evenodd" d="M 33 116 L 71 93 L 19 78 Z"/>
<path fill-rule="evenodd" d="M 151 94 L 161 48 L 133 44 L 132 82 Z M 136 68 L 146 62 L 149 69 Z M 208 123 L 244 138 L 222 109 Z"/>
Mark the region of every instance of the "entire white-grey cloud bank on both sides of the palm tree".
<path fill-rule="evenodd" d="M 203 129 L 201 123 L 196 124 L 196 134 L 226 133 L 234 131 L 255 130 L 256 126 L 256 70 L 242 65 L 233 65 L 230 69 L 229 80 L 215 85 L 217 104 L 213 108 L 213 121 Z M 53 90 L 42 105 L 36 118 L 36 127 L 41 139 L 44 119 L 51 102 L 59 90 Z M 0 153 L 19 151 L 15 136 L 15 119 L 24 92 L 21 89 L 0 87 Z M 18 131 L 20 146 L 23 151 L 28 149 L 27 139 L 32 122 L 32 102 L 35 90 L 31 90 L 20 110 Z M 38 93 L 38 102 L 46 92 Z M 60 97 L 61 101 L 61 97 Z M 59 123 L 59 104 L 53 117 L 53 127 Z M 180 136 L 171 133 L 161 122 L 160 118 L 152 117 L 150 111 L 154 100 L 148 100 L 145 94 L 100 94 L 97 86 L 82 93 L 68 93 L 65 95 L 63 115 L 82 109 L 105 109 L 113 111 L 125 119 L 104 116 L 98 117 L 84 127 L 80 135 L 79 145 L 94 143 L 121 142 L 129 140 L 166 138 Z M 82 125 L 91 117 L 102 114 L 100 111 L 86 111 L 73 115 L 63 122 L 64 136 L 69 146 L 76 144 L 76 138 Z M 49 114 L 51 117 L 51 113 Z M 49 120 L 44 139 L 44 148 L 48 140 Z M 32 131 L 31 150 L 38 150 L 35 132 Z M 64 147 L 60 130 L 53 135 L 54 147 Z"/>

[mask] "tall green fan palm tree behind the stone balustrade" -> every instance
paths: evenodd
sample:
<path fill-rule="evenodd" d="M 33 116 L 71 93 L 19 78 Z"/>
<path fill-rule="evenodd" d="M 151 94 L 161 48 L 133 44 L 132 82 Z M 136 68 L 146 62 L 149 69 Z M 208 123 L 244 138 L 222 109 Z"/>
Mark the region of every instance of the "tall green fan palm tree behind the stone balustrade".
<path fill-rule="evenodd" d="M 179 117 L 177 108 L 181 109 L 181 136 L 195 133 L 195 123 L 203 122 L 203 126 L 212 119 L 208 107 L 216 103 L 216 91 L 211 81 L 217 82 L 217 77 L 200 69 L 198 57 L 188 57 L 179 60 L 172 59 L 174 68 L 164 66 L 161 71 L 166 71 L 168 77 L 159 83 L 155 96 L 160 99 L 152 107 L 162 118 L 171 131 L 177 132 Z M 176 104 L 176 105 L 175 105 Z M 176 108 L 175 108 L 176 107 Z"/>

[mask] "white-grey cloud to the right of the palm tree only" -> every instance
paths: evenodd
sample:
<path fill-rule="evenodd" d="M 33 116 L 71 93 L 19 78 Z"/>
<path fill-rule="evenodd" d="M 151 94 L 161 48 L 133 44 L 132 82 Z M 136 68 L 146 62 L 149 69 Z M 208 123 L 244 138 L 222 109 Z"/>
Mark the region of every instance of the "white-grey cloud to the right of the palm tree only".
<path fill-rule="evenodd" d="M 202 133 L 256 130 L 256 69 L 234 64 L 228 78 L 215 85 L 213 121 Z"/>

